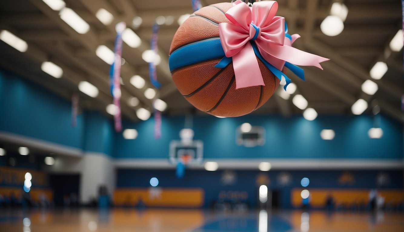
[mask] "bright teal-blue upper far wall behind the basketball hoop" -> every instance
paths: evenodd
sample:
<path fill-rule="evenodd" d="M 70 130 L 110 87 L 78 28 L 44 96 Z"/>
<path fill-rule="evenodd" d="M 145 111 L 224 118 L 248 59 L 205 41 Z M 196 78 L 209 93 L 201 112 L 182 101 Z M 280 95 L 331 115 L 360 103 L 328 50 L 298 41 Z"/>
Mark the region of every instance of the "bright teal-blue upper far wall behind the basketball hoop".
<path fill-rule="evenodd" d="M 236 128 L 244 122 L 263 126 L 265 145 L 247 148 L 236 145 Z M 361 116 L 319 116 L 307 121 L 301 115 L 248 115 L 239 118 L 194 117 L 194 139 L 204 142 L 205 158 L 403 158 L 402 125 L 381 116 L 381 139 L 370 139 L 368 130 L 373 119 Z M 154 139 L 154 120 L 126 123 L 125 128 L 136 128 L 139 136 L 125 140 L 115 137 L 115 157 L 167 158 L 171 140 L 179 140 L 184 117 L 162 118 L 162 137 Z M 335 130 L 335 139 L 322 140 L 322 129 Z"/>

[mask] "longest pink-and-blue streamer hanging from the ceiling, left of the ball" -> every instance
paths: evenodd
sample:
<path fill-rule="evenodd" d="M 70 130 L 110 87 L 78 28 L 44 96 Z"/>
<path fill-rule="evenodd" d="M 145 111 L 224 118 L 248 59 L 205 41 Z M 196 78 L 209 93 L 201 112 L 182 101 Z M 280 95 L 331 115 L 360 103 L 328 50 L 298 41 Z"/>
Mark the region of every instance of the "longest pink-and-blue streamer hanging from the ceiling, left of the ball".
<path fill-rule="evenodd" d="M 114 55 L 115 60 L 111 66 L 112 70 L 112 97 L 113 103 L 116 106 L 116 113 L 114 114 L 114 127 L 115 131 L 120 132 L 122 130 L 122 120 L 121 120 L 121 83 L 120 83 L 120 75 L 121 75 L 121 61 L 122 61 L 122 33 L 126 29 L 126 24 L 124 22 L 120 22 L 116 25 L 116 39 L 115 39 L 115 48 Z"/>

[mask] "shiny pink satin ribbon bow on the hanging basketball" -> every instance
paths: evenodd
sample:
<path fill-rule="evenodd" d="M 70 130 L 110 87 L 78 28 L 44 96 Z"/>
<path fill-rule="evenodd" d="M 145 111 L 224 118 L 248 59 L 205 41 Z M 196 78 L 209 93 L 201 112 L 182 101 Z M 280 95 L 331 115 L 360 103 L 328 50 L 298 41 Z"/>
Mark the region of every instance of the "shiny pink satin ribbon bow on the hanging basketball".
<path fill-rule="evenodd" d="M 278 2 L 254 2 L 252 7 L 241 1 L 227 10 L 230 23 L 219 24 L 221 45 L 227 57 L 233 60 L 236 89 L 265 85 L 250 40 L 255 41 L 263 58 L 282 70 L 285 62 L 295 65 L 316 66 L 327 58 L 293 48 L 285 37 L 285 19 L 275 16 Z M 299 35 L 292 35 L 292 40 Z"/>

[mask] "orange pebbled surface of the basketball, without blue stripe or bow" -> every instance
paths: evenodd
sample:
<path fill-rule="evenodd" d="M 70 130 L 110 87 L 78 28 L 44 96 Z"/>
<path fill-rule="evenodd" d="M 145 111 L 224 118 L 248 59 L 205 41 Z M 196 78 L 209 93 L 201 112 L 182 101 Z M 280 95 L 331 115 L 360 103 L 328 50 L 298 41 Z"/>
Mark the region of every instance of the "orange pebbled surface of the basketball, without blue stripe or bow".
<path fill-rule="evenodd" d="M 192 14 L 177 30 L 170 55 L 184 46 L 219 39 L 219 23 L 229 23 L 225 12 L 232 3 L 205 6 Z M 190 56 L 202 56 L 190 50 Z M 279 79 L 257 58 L 265 86 L 236 89 L 233 64 L 216 68 L 223 57 L 202 60 L 171 70 L 179 92 L 189 103 L 208 114 L 237 117 L 260 108 L 279 86 Z"/>

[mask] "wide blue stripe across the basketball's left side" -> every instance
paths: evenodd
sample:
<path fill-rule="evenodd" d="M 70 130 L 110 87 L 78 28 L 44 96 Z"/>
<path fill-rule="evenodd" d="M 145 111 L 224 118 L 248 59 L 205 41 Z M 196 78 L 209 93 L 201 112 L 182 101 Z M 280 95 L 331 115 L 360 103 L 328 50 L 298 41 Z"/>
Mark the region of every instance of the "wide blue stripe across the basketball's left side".
<path fill-rule="evenodd" d="M 181 68 L 190 64 L 211 60 L 213 58 L 223 58 L 223 51 L 220 39 L 201 41 L 189 44 L 175 50 L 168 59 L 170 70 Z"/>

